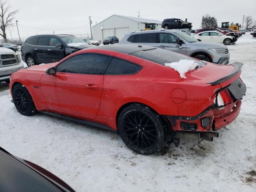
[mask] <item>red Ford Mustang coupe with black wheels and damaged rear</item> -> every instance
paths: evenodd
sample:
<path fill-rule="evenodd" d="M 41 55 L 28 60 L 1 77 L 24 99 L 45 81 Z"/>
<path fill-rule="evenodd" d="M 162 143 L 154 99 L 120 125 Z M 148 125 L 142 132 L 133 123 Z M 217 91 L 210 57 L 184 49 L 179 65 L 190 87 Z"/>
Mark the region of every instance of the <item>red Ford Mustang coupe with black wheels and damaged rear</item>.
<path fill-rule="evenodd" d="M 198 64 L 186 79 L 164 66 L 184 59 Z M 41 111 L 110 128 L 130 149 L 153 154 L 170 133 L 212 140 L 230 124 L 246 92 L 241 67 L 150 46 L 98 46 L 13 73 L 10 92 L 22 115 Z"/>

